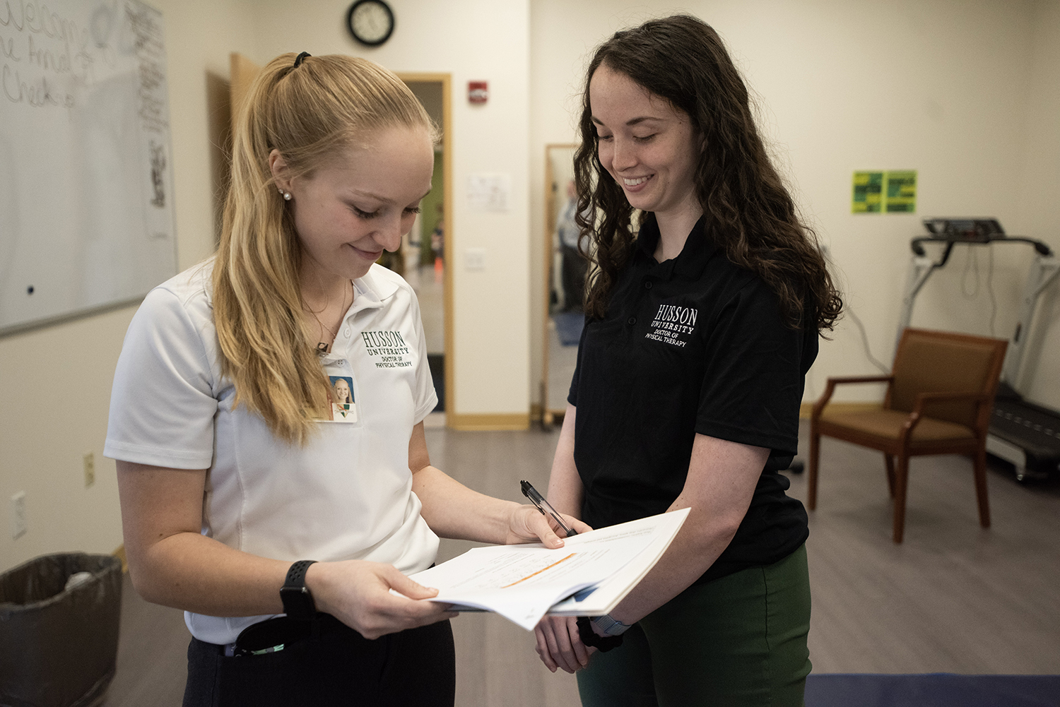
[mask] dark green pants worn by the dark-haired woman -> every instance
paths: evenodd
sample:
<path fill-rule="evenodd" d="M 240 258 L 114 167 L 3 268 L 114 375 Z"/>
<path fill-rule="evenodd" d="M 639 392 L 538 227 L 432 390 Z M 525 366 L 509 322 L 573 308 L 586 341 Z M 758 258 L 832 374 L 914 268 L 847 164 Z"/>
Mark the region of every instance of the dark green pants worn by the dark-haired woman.
<path fill-rule="evenodd" d="M 800 707 L 810 652 L 806 546 L 692 586 L 578 672 L 584 707 Z"/>

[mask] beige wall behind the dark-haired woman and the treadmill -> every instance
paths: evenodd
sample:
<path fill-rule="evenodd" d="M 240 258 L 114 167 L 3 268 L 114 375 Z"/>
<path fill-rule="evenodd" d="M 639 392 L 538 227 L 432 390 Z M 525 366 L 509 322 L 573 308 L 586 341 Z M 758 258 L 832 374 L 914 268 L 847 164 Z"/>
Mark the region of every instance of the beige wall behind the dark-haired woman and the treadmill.
<path fill-rule="evenodd" d="M 543 146 L 575 139 L 591 49 L 615 30 L 674 12 L 664 2 L 535 0 L 531 15 L 534 321 L 542 316 Z M 760 99 L 760 123 L 801 209 L 829 246 L 871 351 L 888 364 L 909 260 L 925 215 L 996 216 L 1008 232 L 1056 234 L 1057 3 L 964 0 L 686 2 L 723 36 Z M 917 213 L 852 215 L 855 170 L 919 171 Z M 994 333 L 1014 329 L 1030 249 L 994 247 Z M 970 252 L 977 253 L 978 286 Z M 989 334 L 988 251 L 956 249 L 917 300 L 913 324 Z M 964 281 L 964 289 L 961 282 Z M 1058 307 L 1057 311 L 1060 311 Z M 1043 318 L 1040 317 L 1040 320 Z M 1031 397 L 1060 408 L 1060 325 L 1040 321 Z M 534 375 L 541 367 L 534 341 Z M 829 375 L 874 372 L 853 319 L 823 343 L 807 400 Z M 850 400 L 879 390 L 851 389 Z"/>

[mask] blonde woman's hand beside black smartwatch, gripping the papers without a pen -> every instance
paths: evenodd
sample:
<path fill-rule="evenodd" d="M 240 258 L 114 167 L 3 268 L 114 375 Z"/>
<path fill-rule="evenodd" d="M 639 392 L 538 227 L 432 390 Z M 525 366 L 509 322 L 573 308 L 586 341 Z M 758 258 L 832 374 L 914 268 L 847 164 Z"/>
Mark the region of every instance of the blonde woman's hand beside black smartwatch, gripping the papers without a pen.
<path fill-rule="evenodd" d="M 317 611 L 331 614 L 368 639 L 457 616 L 448 604 L 413 601 L 429 599 L 438 589 L 417 584 L 393 565 L 379 562 L 318 562 L 310 565 L 305 585 Z M 395 597 L 390 589 L 404 596 Z"/>

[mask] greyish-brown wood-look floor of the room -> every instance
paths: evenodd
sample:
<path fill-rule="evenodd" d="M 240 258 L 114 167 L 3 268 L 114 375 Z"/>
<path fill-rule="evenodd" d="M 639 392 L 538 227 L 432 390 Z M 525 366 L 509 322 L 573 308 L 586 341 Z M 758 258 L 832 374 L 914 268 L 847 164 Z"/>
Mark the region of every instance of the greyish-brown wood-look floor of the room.
<path fill-rule="evenodd" d="M 547 485 L 556 431 L 427 430 L 431 461 L 483 493 L 520 499 L 519 479 Z M 791 494 L 806 498 L 805 475 Z M 971 462 L 915 459 L 905 543 L 878 453 L 825 439 L 810 516 L 815 672 L 1060 673 L 1060 482 L 1024 487 L 989 474 L 993 527 L 978 526 Z M 439 560 L 470 543 L 443 541 Z M 549 673 L 532 636 L 495 615 L 454 621 L 457 705 L 579 705 L 573 676 Z M 175 609 L 125 582 L 118 674 L 106 705 L 180 704 L 188 632 Z"/>

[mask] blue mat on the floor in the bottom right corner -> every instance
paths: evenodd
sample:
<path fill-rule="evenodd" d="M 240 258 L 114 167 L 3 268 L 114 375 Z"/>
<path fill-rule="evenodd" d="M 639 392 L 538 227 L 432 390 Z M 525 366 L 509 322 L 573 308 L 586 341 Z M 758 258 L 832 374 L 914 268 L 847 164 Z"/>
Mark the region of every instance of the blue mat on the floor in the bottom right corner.
<path fill-rule="evenodd" d="M 1060 707 L 1060 675 L 810 675 L 806 707 Z"/>

